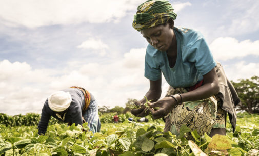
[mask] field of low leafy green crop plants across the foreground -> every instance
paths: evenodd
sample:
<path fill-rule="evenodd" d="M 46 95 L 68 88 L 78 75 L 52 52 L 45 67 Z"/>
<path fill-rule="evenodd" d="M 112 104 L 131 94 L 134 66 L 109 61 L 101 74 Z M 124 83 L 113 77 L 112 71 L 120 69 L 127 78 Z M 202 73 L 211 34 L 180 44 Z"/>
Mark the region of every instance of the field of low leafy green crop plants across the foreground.
<path fill-rule="evenodd" d="M 112 116 L 112 115 L 110 115 Z M 101 116 L 101 120 L 107 116 Z M 227 136 L 199 136 L 182 126 L 178 134 L 163 133 L 164 123 L 102 123 L 94 135 L 82 126 L 49 125 L 45 136 L 37 135 L 34 126 L 0 125 L 2 155 L 257 155 L 259 149 L 259 115 L 238 114 L 232 133 Z M 107 121 L 108 122 L 108 121 Z M 192 141 L 185 137 L 190 133 Z M 254 152 L 254 153 L 251 153 Z"/>

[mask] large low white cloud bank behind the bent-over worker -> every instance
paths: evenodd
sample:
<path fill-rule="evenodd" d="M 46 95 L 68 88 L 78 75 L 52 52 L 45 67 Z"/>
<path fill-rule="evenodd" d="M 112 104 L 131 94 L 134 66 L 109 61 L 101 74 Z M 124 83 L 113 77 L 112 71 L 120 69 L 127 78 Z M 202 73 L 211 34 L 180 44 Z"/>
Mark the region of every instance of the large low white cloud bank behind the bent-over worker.
<path fill-rule="evenodd" d="M 148 91 L 144 60 L 143 48 L 131 49 L 123 58 L 110 64 L 89 63 L 80 68 L 65 67 L 59 71 L 33 70 L 25 62 L 1 61 L 0 112 L 12 115 L 40 113 L 44 101 L 53 91 L 70 86 L 86 88 L 93 93 L 100 106 L 125 107 L 128 98 L 141 99 Z"/>

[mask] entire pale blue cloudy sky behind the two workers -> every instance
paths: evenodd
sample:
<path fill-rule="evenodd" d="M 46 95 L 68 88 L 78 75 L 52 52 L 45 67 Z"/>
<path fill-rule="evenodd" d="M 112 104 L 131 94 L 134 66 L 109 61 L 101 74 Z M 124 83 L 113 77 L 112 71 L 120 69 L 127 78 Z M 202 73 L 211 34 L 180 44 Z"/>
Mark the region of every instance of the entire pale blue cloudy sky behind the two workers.
<path fill-rule="evenodd" d="M 140 0 L 0 0 L 0 113 L 41 113 L 57 91 L 80 86 L 125 107 L 149 89 L 147 41 L 132 28 Z M 259 1 L 169 1 L 176 27 L 202 32 L 229 80 L 259 76 Z M 168 84 L 162 80 L 162 97 Z"/>

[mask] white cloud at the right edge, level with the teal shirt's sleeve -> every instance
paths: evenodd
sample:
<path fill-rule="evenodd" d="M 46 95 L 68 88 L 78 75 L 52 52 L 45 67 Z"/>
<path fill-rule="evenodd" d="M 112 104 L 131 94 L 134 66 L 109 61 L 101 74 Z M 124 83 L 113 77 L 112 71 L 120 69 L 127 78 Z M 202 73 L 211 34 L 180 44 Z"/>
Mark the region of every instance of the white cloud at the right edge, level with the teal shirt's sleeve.
<path fill-rule="evenodd" d="M 219 37 L 209 46 L 216 60 L 226 61 L 233 58 L 245 57 L 247 55 L 259 56 L 259 40 L 254 42 L 251 40 L 239 42 L 232 37 Z"/>

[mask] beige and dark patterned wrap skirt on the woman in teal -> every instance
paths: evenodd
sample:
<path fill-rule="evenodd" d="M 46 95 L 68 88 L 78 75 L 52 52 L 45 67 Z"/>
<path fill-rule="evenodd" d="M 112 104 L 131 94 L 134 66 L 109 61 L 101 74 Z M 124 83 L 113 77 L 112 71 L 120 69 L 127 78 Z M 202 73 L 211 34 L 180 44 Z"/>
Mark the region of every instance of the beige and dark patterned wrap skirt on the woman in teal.
<path fill-rule="evenodd" d="M 188 92 L 185 88 L 169 87 L 167 95 Z M 203 135 L 210 134 L 212 128 L 226 127 L 226 111 L 220 107 L 220 99 L 211 96 L 207 99 L 188 101 L 178 104 L 165 116 L 166 124 L 164 131 L 179 132 L 182 125 L 186 125 L 192 131 Z M 188 135 L 188 134 L 187 134 Z"/>

